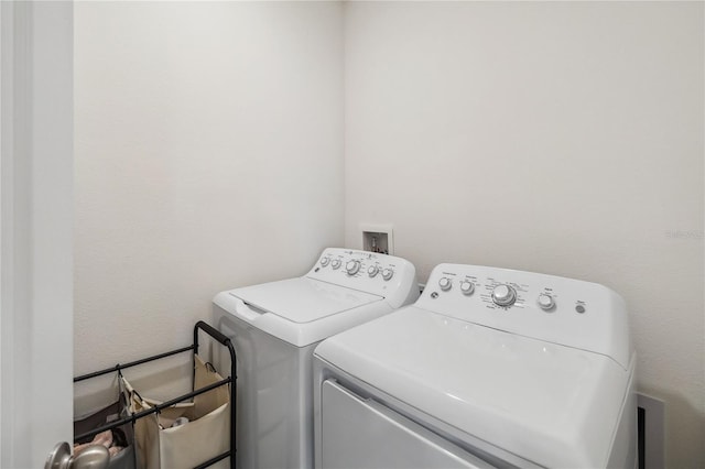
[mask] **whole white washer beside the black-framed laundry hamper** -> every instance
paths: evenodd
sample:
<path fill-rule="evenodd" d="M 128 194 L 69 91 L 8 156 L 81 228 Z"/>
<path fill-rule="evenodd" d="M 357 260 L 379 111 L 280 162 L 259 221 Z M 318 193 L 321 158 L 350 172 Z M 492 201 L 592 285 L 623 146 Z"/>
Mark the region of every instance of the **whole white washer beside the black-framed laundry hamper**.
<path fill-rule="evenodd" d="M 315 346 L 417 297 L 409 261 L 334 248 L 302 277 L 219 293 L 215 327 L 238 360 L 237 467 L 313 467 Z M 219 361 L 229 369 L 229 358 Z"/>

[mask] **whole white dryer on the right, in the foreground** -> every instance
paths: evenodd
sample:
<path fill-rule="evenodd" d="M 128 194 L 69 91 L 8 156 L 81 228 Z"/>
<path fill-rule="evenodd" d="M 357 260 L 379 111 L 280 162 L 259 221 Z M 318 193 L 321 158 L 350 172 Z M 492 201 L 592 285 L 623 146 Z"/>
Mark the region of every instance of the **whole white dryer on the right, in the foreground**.
<path fill-rule="evenodd" d="M 634 350 L 594 283 L 440 264 L 315 350 L 317 468 L 633 468 Z"/>

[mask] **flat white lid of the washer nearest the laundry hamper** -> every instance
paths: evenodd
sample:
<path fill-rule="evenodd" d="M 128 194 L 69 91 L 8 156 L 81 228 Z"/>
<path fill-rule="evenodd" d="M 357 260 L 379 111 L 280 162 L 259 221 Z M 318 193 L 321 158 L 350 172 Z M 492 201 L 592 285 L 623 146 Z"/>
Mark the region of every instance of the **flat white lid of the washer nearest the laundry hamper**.
<path fill-rule="evenodd" d="M 214 302 L 267 334 L 305 347 L 391 312 L 383 299 L 370 293 L 297 277 L 221 292 Z"/>

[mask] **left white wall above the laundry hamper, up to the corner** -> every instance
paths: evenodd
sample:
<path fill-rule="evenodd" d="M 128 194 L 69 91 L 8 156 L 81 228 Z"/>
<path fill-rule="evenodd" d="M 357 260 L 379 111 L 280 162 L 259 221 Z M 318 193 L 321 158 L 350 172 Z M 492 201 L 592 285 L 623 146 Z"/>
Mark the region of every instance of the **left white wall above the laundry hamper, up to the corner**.
<path fill-rule="evenodd" d="M 344 236 L 341 7 L 76 2 L 76 374 Z"/>

